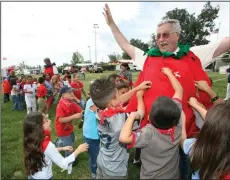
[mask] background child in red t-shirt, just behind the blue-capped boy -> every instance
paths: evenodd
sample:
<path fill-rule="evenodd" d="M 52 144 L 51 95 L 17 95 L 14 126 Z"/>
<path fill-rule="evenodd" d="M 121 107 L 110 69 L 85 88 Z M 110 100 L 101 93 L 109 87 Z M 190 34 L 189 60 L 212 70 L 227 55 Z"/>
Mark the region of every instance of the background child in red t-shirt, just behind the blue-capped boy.
<path fill-rule="evenodd" d="M 85 98 L 87 99 L 87 94 L 84 90 L 83 83 L 79 80 L 79 74 L 75 73 L 73 75 L 73 82 L 71 83 L 71 87 L 74 89 L 74 95 L 78 100 L 80 100 L 80 107 L 84 108 L 84 100 L 82 99 L 82 93 L 84 94 Z"/>

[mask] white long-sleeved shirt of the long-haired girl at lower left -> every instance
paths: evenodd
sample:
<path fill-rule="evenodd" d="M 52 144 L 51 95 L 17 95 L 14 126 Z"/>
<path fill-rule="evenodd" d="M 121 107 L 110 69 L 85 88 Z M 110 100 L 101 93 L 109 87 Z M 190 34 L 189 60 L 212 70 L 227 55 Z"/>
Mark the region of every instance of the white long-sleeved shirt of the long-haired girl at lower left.
<path fill-rule="evenodd" d="M 53 162 L 60 168 L 64 170 L 69 170 L 70 168 L 72 168 L 71 163 L 75 161 L 75 156 L 73 153 L 66 158 L 62 157 L 62 155 L 58 152 L 57 148 L 52 142 L 49 142 L 44 152 L 44 155 L 46 166 L 43 167 L 41 171 L 38 171 L 37 173 L 31 175 L 31 177 L 34 179 L 50 179 L 51 177 L 53 177 Z"/>

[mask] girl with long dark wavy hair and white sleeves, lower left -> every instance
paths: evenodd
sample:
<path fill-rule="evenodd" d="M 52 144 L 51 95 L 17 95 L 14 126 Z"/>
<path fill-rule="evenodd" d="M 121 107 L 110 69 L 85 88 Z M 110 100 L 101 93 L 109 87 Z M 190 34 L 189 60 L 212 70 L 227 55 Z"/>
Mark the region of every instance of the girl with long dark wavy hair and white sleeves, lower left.
<path fill-rule="evenodd" d="M 69 169 L 78 155 L 87 151 L 88 145 L 81 144 L 67 158 L 58 151 L 72 152 L 71 146 L 56 148 L 51 141 L 51 121 L 41 112 L 27 115 L 24 120 L 24 165 L 29 179 L 52 179 L 53 162 L 60 168 Z"/>

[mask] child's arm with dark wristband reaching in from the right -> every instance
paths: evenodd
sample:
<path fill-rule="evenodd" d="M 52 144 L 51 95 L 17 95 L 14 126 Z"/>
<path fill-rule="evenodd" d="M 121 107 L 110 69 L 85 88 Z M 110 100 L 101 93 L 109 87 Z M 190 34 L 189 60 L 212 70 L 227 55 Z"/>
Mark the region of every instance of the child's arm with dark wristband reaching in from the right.
<path fill-rule="evenodd" d="M 208 85 L 206 81 L 195 81 L 195 86 L 201 90 L 206 92 L 209 97 L 213 100 L 213 105 L 217 105 L 220 103 L 224 103 L 224 100 L 219 98 L 219 96 L 213 91 L 213 89 Z"/>

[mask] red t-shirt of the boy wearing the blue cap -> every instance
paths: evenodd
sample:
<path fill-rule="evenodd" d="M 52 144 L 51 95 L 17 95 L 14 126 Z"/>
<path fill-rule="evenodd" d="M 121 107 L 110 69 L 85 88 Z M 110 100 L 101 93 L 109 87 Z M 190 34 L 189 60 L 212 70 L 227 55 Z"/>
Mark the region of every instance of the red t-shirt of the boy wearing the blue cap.
<path fill-rule="evenodd" d="M 55 121 L 55 130 L 57 136 L 68 136 L 73 132 L 73 124 L 69 123 L 60 123 L 60 117 L 72 116 L 76 113 L 80 113 L 81 108 L 74 103 L 72 100 L 61 98 L 56 109 L 56 121 Z"/>

